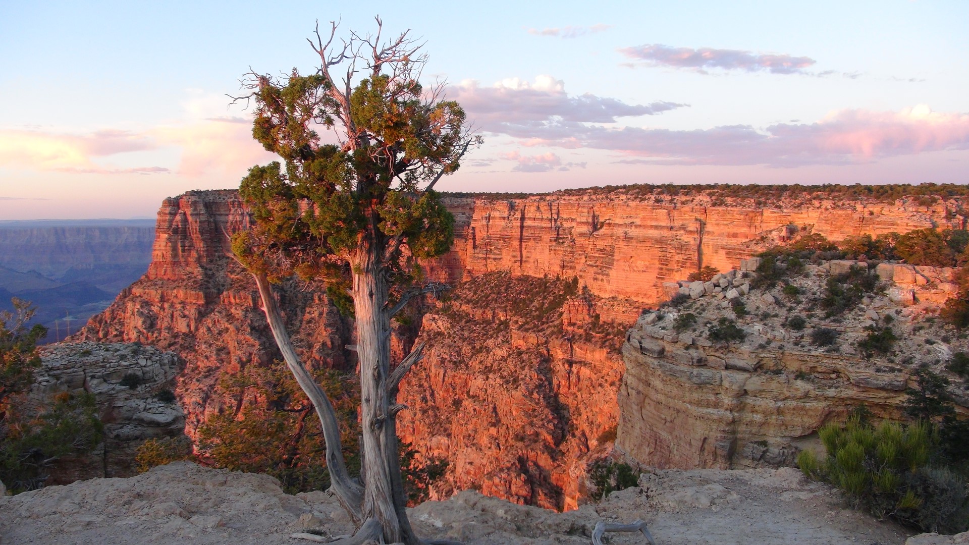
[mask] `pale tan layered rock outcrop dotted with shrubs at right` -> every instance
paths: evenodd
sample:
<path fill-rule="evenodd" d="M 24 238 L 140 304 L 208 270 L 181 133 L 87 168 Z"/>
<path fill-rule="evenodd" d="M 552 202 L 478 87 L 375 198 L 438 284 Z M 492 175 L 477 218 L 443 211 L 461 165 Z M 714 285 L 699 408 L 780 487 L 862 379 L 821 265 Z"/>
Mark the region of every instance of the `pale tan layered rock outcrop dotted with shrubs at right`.
<path fill-rule="evenodd" d="M 899 418 L 911 370 L 926 364 L 947 373 L 949 355 L 969 349 L 969 341 L 926 318 L 930 303 L 892 301 L 898 290 L 910 289 L 907 283 L 890 283 L 885 293 L 824 318 L 818 300 L 828 276 L 851 265 L 809 266 L 805 276 L 791 279 L 801 291 L 797 297 L 781 293 L 780 285 L 752 289 L 756 273 L 732 272 L 726 286 L 701 285 L 691 303 L 643 314 L 622 347 L 617 448 L 659 467 L 790 465 L 799 449 L 819 443 L 818 428 L 861 404 L 876 417 Z M 907 267 L 876 270 L 885 278 L 886 270 Z M 743 301 L 748 314 L 737 317 L 729 299 Z M 697 316 L 696 325 L 675 331 L 686 313 Z M 803 331 L 788 325 L 796 316 L 806 318 Z M 711 340 L 709 328 L 724 317 L 746 338 Z M 874 325 L 888 325 L 900 337 L 891 353 L 865 354 L 859 347 L 865 328 Z M 812 343 L 820 328 L 836 332 L 832 345 Z M 969 413 L 964 388 L 953 387 L 952 394 L 959 411 Z"/>

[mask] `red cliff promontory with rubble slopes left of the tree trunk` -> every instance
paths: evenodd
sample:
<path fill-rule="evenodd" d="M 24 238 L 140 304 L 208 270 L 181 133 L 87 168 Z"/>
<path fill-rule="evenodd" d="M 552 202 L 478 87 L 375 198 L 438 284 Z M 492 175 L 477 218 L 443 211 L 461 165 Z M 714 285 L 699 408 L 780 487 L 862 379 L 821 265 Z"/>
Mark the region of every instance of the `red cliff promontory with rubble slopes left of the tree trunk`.
<path fill-rule="evenodd" d="M 158 212 L 148 272 L 76 339 L 142 342 L 185 359 L 175 393 L 195 436 L 206 415 L 232 409 L 215 395 L 220 377 L 279 358 L 252 277 L 229 257 L 229 237 L 248 225 L 235 191 L 192 191 L 166 199 Z M 276 290 L 306 364 L 345 369 L 351 331 L 320 286 Z"/>

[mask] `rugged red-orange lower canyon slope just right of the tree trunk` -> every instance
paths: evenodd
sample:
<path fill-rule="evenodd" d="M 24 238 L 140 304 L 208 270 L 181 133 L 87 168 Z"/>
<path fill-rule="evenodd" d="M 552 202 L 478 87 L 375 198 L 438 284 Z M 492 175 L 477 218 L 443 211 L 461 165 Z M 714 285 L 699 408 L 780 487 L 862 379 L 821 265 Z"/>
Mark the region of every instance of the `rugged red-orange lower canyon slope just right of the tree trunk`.
<path fill-rule="evenodd" d="M 568 285 L 491 272 L 424 315 L 418 340 L 429 348 L 401 385 L 398 401 L 410 408 L 398 430 L 424 460 L 448 461 L 432 497 L 475 489 L 578 507 L 585 466 L 611 446 L 617 424 L 622 362 L 609 346 L 621 329 L 570 330 Z"/>

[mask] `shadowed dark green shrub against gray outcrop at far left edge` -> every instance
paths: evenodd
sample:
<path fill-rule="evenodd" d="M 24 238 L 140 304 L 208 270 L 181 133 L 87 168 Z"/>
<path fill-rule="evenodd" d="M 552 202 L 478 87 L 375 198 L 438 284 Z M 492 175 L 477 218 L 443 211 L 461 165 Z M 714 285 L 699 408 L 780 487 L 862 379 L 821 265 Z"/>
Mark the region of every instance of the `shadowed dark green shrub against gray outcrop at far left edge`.
<path fill-rule="evenodd" d="M 61 393 L 35 418 L 15 415 L 0 441 L 0 481 L 22 492 L 44 485 L 47 466 L 62 456 L 90 450 L 104 426 L 94 394 Z"/>

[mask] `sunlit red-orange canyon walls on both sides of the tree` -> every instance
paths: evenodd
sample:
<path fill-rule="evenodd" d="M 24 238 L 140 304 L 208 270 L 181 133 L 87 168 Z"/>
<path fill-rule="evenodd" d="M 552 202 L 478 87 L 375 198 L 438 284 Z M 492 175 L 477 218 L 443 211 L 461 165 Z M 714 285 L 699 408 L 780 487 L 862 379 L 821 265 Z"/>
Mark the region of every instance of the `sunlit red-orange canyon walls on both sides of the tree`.
<path fill-rule="evenodd" d="M 426 271 L 452 284 L 453 294 L 415 305 L 413 323 L 392 338 L 398 359 L 415 342 L 428 343 L 424 361 L 401 386 L 398 399 L 410 407 L 399 417 L 401 438 L 423 460 L 448 462 L 433 497 L 473 488 L 555 509 L 578 506 L 587 463 L 609 454 L 613 441 L 643 464 L 723 466 L 733 465 L 733 452 L 747 442 L 761 440 L 741 433 L 728 458 L 698 455 L 695 437 L 685 439 L 689 448 L 667 449 L 662 460 L 653 460 L 656 449 L 637 450 L 679 426 L 672 422 L 663 432 L 626 420 L 627 412 L 655 416 L 635 405 L 644 406 L 641 391 L 652 378 L 639 379 L 639 397 L 622 378 L 641 356 L 631 341 L 623 343 L 625 332 L 643 309 L 668 298 L 670 282 L 704 266 L 729 271 L 804 234 L 842 240 L 963 221 L 955 213 L 959 199 L 845 201 L 805 192 L 765 204 L 649 186 L 446 195 L 445 202 L 455 217 L 453 249 Z M 220 377 L 278 358 L 255 284 L 230 257 L 229 237 L 249 221 L 232 190 L 166 199 L 147 273 L 74 337 L 138 341 L 184 359 L 175 394 L 189 436 L 209 416 L 237 410 L 218 394 Z M 573 281 L 574 290 L 566 285 Z M 352 321 L 322 285 L 292 280 L 277 287 L 277 296 L 309 367 L 354 369 Z M 664 395 L 694 390 L 680 380 Z M 718 426 L 703 436 L 721 441 Z"/>

